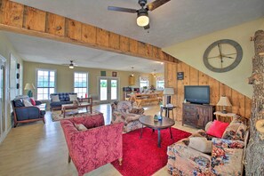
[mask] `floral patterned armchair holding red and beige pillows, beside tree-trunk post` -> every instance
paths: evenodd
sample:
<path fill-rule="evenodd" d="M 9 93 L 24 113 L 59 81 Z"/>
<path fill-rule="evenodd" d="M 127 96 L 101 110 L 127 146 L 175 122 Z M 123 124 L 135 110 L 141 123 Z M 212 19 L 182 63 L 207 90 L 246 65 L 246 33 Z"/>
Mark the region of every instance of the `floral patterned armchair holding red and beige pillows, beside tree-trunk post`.
<path fill-rule="evenodd" d="M 212 122 L 208 123 L 208 130 Z M 243 160 L 248 129 L 241 116 L 236 116 L 228 125 L 222 138 L 214 138 L 204 130 L 192 134 L 188 139 L 180 140 L 167 148 L 167 169 L 172 175 L 242 175 Z M 205 138 L 211 142 L 210 152 L 203 153 L 197 148 L 190 147 L 191 140 Z"/>

